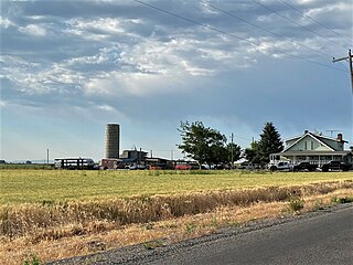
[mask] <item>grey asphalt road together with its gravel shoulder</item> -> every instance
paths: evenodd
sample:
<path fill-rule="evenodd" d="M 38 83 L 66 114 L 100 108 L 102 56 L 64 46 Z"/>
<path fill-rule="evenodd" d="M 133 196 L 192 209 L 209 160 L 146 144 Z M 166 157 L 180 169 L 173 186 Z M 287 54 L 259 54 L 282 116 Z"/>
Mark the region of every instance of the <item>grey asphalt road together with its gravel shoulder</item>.
<path fill-rule="evenodd" d="M 353 203 L 255 222 L 191 241 L 146 250 L 135 245 L 51 264 L 276 265 L 353 261 Z"/>

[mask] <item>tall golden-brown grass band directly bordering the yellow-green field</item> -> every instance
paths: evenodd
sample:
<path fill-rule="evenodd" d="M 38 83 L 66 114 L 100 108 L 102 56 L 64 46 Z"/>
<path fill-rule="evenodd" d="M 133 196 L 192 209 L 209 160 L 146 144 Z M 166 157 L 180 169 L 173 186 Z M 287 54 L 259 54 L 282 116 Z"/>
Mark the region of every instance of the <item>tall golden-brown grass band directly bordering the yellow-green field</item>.
<path fill-rule="evenodd" d="M 131 223 L 148 223 L 221 206 L 286 201 L 302 192 L 321 194 L 352 188 L 352 181 L 314 183 L 304 187 L 269 187 L 245 190 L 193 192 L 176 195 L 135 197 L 101 201 L 3 205 L 0 236 L 30 235 L 34 242 L 111 230 Z"/>

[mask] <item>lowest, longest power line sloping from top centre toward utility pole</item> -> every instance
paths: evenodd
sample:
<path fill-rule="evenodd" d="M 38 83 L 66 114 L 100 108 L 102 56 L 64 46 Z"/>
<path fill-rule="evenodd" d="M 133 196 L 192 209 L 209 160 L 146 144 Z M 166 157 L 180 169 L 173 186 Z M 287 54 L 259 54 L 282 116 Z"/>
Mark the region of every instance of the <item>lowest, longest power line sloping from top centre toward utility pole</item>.
<path fill-rule="evenodd" d="M 153 6 L 153 4 L 150 4 L 150 3 L 147 3 L 147 2 L 143 2 L 143 1 L 140 1 L 140 0 L 133 0 L 133 1 L 135 1 L 135 2 L 138 2 L 138 3 L 140 3 L 140 4 L 143 4 L 143 6 L 146 6 L 146 7 L 149 7 L 149 8 L 151 8 L 151 9 L 158 10 L 158 11 L 160 11 L 160 12 L 167 13 L 167 14 L 169 14 L 169 15 L 175 17 L 175 18 L 178 18 L 178 19 L 182 19 L 182 20 L 185 20 L 185 21 L 188 21 L 188 22 L 190 22 L 190 23 L 193 23 L 193 24 L 196 24 L 196 25 L 201 25 L 201 26 L 203 26 L 203 28 L 205 28 L 205 29 L 208 29 L 208 30 L 212 30 L 212 31 L 222 33 L 222 34 L 227 35 L 227 36 L 231 36 L 231 38 L 233 38 L 233 39 L 237 39 L 237 40 L 240 40 L 240 41 L 245 41 L 245 42 L 248 42 L 248 43 L 250 43 L 250 44 L 253 44 L 253 45 L 257 45 L 257 46 L 260 46 L 260 45 L 261 45 L 261 43 L 257 43 L 257 42 L 255 42 L 255 41 L 250 41 L 250 40 L 247 40 L 247 39 L 245 39 L 245 38 L 237 36 L 237 35 L 235 35 L 235 34 L 232 34 L 232 33 L 226 32 L 226 31 L 224 31 L 224 30 L 220 30 L 220 29 L 216 29 L 216 28 L 214 28 L 214 26 L 211 26 L 211 25 L 207 25 L 207 24 L 203 24 L 203 23 L 197 22 L 197 21 L 194 21 L 194 20 L 192 20 L 192 19 L 188 19 L 188 18 L 182 17 L 182 15 L 180 15 L 180 14 L 175 14 L 175 13 L 172 13 L 172 12 L 170 12 L 170 11 L 168 11 L 168 10 L 158 8 L 158 7 Z M 308 59 L 304 59 L 304 57 L 300 57 L 300 56 L 297 56 L 297 55 L 293 55 L 293 54 L 290 54 L 290 53 L 287 53 L 287 52 L 284 52 L 284 51 L 278 51 L 278 50 L 271 49 L 271 47 L 270 47 L 270 50 L 272 50 L 272 51 L 276 52 L 276 53 L 286 54 L 286 55 L 288 55 L 288 56 L 290 56 L 290 57 L 293 57 L 293 59 L 297 59 L 297 60 L 300 60 L 300 61 L 306 61 L 306 62 L 309 62 L 309 63 L 312 63 L 312 64 L 320 65 L 320 66 L 322 66 L 322 67 L 327 67 L 327 68 L 340 71 L 340 72 L 345 72 L 345 71 L 343 71 L 343 70 L 335 68 L 335 67 L 329 66 L 329 65 L 327 65 L 327 64 L 319 63 L 319 62 L 315 62 L 315 61 L 311 61 L 311 60 L 308 60 Z"/>

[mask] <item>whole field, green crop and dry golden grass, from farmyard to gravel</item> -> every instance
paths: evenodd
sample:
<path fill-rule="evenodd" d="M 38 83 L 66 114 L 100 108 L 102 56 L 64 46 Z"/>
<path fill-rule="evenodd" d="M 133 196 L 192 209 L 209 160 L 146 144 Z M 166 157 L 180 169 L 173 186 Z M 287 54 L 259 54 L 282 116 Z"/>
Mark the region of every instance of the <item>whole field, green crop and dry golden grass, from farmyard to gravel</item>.
<path fill-rule="evenodd" d="M 0 264 L 178 242 L 351 201 L 352 172 L 0 170 Z"/>

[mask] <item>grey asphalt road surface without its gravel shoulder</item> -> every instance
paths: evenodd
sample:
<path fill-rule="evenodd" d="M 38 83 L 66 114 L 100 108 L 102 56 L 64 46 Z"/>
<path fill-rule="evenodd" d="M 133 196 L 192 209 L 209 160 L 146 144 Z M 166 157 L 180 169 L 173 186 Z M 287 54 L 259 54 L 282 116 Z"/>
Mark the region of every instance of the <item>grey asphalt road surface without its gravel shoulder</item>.
<path fill-rule="evenodd" d="M 353 264 L 353 208 L 196 244 L 139 264 Z"/>

